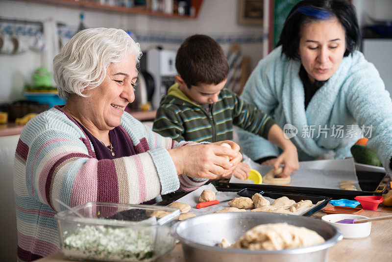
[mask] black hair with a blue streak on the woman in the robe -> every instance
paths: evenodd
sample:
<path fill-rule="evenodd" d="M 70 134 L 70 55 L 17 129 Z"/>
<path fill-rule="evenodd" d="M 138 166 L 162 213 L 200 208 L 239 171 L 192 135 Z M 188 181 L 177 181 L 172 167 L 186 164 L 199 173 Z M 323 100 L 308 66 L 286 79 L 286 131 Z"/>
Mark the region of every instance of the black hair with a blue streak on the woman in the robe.
<path fill-rule="evenodd" d="M 303 0 L 291 9 L 286 18 L 276 46 L 289 58 L 299 58 L 297 53 L 301 27 L 304 23 L 336 17 L 342 24 L 346 38 L 344 56 L 352 53 L 361 38 L 355 7 L 347 0 Z"/>

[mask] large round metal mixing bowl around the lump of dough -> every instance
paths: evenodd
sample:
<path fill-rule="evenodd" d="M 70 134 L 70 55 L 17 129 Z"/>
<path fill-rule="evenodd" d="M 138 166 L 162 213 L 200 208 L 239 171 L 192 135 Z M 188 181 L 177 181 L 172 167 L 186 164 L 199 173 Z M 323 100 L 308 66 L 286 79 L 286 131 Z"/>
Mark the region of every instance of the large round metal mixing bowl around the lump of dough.
<path fill-rule="evenodd" d="M 257 225 L 281 222 L 314 230 L 324 237 L 325 242 L 315 246 L 274 251 L 217 246 L 222 238 L 233 243 L 247 230 Z M 343 238 L 337 228 L 318 219 L 263 212 L 196 216 L 176 223 L 171 231 L 182 244 L 186 262 L 326 262 L 329 248 Z"/>

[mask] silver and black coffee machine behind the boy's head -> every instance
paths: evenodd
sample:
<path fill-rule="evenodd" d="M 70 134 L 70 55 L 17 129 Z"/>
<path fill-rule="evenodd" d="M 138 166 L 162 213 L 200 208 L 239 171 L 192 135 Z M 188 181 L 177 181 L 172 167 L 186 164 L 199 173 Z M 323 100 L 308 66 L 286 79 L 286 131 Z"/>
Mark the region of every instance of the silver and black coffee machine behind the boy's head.
<path fill-rule="evenodd" d="M 140 73 L 146 81 L 146 86 L 148 85 L 147 89 L 150 90 L 147 97 L 149 97 L 153 109 L 159 107 L 162 96 L 175 83 L 174 76 L 177 74 L 175 70 L 176 53 L 174 50 L 155 48 L 143 52 L 140 59 Z M 153 87 L 150 86 L 151 84 Z"/>

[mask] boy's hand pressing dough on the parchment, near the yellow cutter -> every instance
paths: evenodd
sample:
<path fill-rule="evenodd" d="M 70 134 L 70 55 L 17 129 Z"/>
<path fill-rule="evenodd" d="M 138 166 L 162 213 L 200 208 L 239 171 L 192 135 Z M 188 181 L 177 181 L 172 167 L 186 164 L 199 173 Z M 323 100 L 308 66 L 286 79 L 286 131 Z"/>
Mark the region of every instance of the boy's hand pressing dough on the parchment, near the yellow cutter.
<path fill-rule="evenodd" d="M 268 161 L 271 160 L 275 160 L 273 163 L 275 169 L 278 169 L 281 164 L 284 165 L 283 172 L 277 175 L 277 177 L 288 177 L 299 168 L 297 149 L 294 145 L 293 147 L 288 147 L 279 157 Z"/>

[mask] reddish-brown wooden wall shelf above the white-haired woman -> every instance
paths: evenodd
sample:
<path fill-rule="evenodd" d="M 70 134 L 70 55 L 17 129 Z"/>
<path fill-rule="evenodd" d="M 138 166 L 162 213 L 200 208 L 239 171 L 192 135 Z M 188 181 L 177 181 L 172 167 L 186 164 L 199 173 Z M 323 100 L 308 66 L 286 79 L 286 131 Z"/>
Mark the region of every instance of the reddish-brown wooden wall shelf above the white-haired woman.
<path fill-rule="evenodd" d="M 101 11 L 111 11 L 111 12 L 120 12 L 120 13 L 133 13 L 133 14 L 144 14 L 155 17 L 163 17 L 163 18 L 174 18 L 174 19 L 195 19 L 197 18 L 200 6 L 203 0 L 191 0 L 191 7 L 195 8 L 195 16 L 188 15 L 177 15 L 177 14 L 166 14 L 162 12 L 155 12 L 146 10 L 146 6 L 140 7 L 123 7 L 123 6 L 113 6 L 113 5 L 105 5 L 95 2 L 93 0 L 31 0 L 34 2 L 52 4 L 52 5 L 61 5 L 61 6 L 73 6 L 73 7 L 82 7 L 90 10 L 101 10 Z"/>

